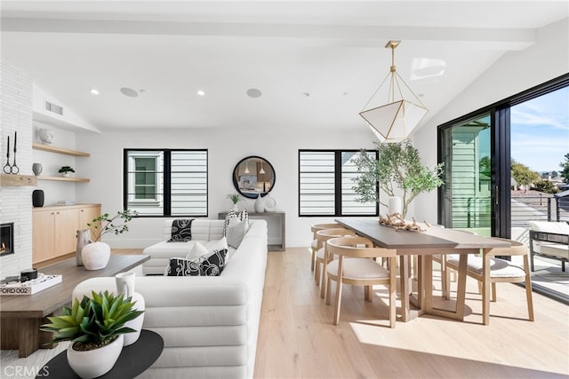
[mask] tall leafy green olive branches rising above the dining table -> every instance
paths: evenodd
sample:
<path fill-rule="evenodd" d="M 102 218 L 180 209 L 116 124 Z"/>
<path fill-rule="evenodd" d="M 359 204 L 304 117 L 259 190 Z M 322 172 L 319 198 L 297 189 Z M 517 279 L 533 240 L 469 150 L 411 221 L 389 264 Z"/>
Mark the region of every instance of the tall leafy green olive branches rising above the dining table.
<path fill-rule="evenodd" d="M 353 189 L 359 195 L 357 201 L 377 201 L 389 207 L 389 202 L 380 198 L 380 192 L 386 193 L 390 198 L 401 195 L 400 217 L 405 219 L 411 201 L 419 194 L 443 185 L 440 178 L 443 163 L 437 164 L 433 169 L 423 166 L 419 151 L 408 141 L 376 142 L 375 146 L 379 152 L 378 160 L 366 154 L 365 150 L 354 159 L 359 173 L 357 178 L 352 179 L 356 183 Z"/>

